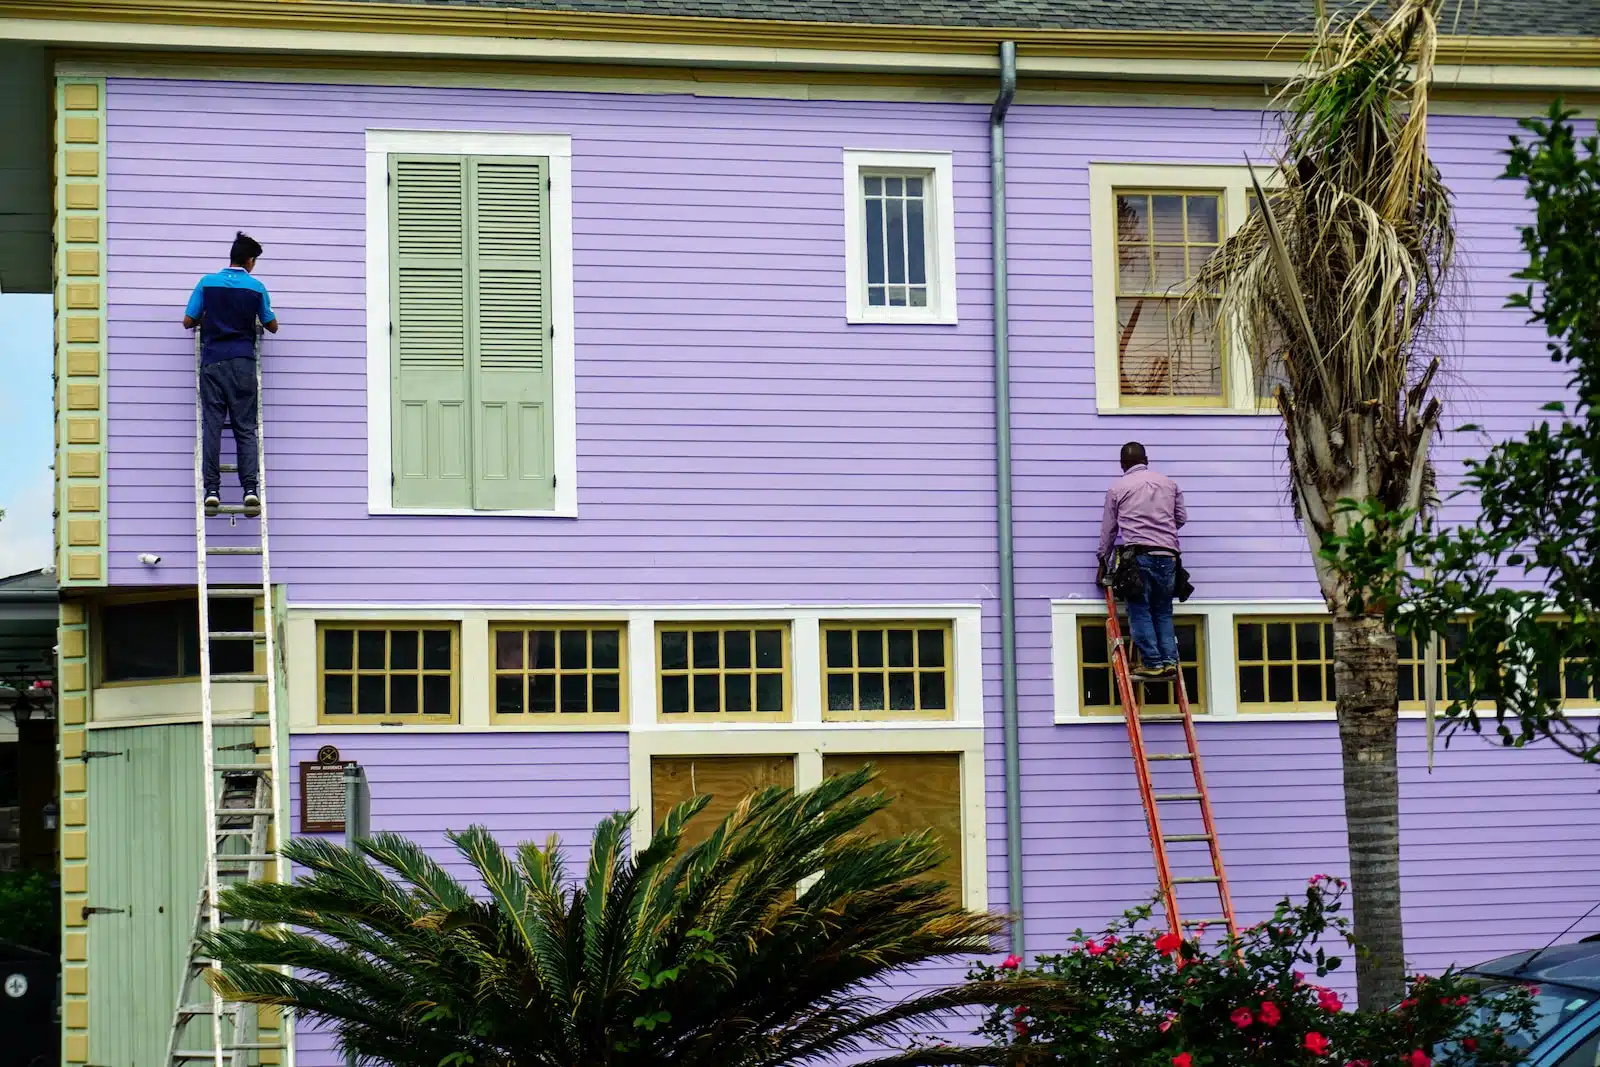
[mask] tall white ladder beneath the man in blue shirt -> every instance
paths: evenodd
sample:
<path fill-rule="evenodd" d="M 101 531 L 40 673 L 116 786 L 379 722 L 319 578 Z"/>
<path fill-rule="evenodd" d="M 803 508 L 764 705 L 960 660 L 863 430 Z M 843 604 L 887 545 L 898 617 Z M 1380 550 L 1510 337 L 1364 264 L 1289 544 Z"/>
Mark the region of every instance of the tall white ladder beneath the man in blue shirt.
<path fill-rule="evenodd" d="M 280 774 L 278 758 L 278 705 L 274 678 L 278 664 L 278 643 L 274 624 L 272 568 L 267 553 L 267 494 L 266 494 L 266 422 L 261 397 L 261 333 L 256 333 L 256 432 L 261 467 L 261 512 L 256 544 L 213 545 L 206 541 L 205 488 L 200 474 L 202 427 L 198 394 L 200 328 L 195 328 L 195 593 L 200 605 L 200 752 L 205 763 L 205 869 L 195 902 L 194 926 L 184 960 L 182 979 L 178 987 L 178 1005 L 173 1011 L 173 1029 L 166 1046 L 168 1067 L 192 1067 L 210 1062 L 213 1067 L 253 1067 L 256 1064 L 282 1064 L 288 1057 L 288 1027 L 280 1013 L 262 1013 L 254 1005 L 224 1001 L 206 982 L 206 971 L 218 963 L 200 952 L 198 937 L 224 926 L 246 929 L 237 920 L 227 920 L 218 909 L 218 894 L 227 886 L 261 878 L 282 877 L 280 861 L 274 849 L 282 841 L 278 833 Z M 237 464 L 224 464 L 224 472 L 235 472 Z M 242 504 L 218 509 L 229 525 L 237 525 L 246 515 Z M 245 523 L 248 530 L 248 522 Z M 211 585 L 208 579 L 210 557 L 258 555 L 261 557 L 261 582 L 250 585 Z M 253 605 L 251 627 L 246 630 L 213 630 L 211 600 L 246 600 Z M 254 649 L 253 673 L 213 673 L 213 641 L 251 641 Z M 216 683 L 250 683 L 254 699 L 248 712 L 218 713 L 213 699 Z M 250 741 L 219 744 L 218 728 L 240 733 L 250 728 Z"/>

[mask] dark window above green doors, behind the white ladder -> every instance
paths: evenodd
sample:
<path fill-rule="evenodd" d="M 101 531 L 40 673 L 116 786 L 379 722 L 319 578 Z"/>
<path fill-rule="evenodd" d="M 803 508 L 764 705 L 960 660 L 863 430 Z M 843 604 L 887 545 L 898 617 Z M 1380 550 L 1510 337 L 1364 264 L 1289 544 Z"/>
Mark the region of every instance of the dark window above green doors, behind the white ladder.
<path fill-rule="evenodd" d="M 211 630 L 258 630 L 256 601 L 210 603 Z M 173 681 L 200 675 L 200 605 L 194 597 L 133 600 L 99 606 L 101 685 Z M 211 673 L 251 673 L 251 640 L 211 641 Z"/>

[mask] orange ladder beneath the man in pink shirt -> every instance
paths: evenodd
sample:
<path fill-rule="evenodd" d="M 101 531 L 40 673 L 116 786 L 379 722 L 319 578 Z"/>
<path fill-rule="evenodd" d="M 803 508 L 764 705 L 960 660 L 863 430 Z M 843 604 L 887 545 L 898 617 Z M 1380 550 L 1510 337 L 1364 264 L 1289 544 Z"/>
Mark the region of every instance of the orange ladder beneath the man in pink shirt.
<path fill-rule="evenodd" d="M 1134 686 L 1142 681 L 1128 673 L 1128 645 L 1123 640 L 1122 627 L 1117 624 L 1117 598 L 1110 589 L 1106 590 L 1106 638 L 1110 648 L 1112 673 L 1117 678 L 1117 694 L 1122 697 L 1122 713 L 1128 723 L 1128 742 L 1133 747 L 1133 769 L 1139 779 L 1139 798 L 1144 803 L 1144 824 L 1150 832 L 1150 851 L 1155 854 L 1155 878 L 1160 886 L 1162 905 L 1166 909 L 1166 925 L 1179 937 L 1189 936 L 1190 929 L 1226 923 L 1229 936 L 1238 934 L 1234 921 L 1234 899 L 1227 893 L 1227 872 L 1222 870 L 1222 845 L 1218 840 L 1216 821 L 1211 817 L 1211 793 L 1205 784 L 1205 768 L 1200 765 L 1200 742 L 1195 737 L 1194 717 L 1189 713 L 1189 693 L 1184 688 L 1182 667 L 1171 680 L 1178 694 L 1176 715 L 1141 715 L 1139 701 L 1134 697 Z M 1142 693 L 1141 693 L 1142 696 Z M 1182 752 L 1149 752 L 1144 745 L 1144 723 L 1152 720 L 1181 721 L 1184 728 Z M 1155 792 L 1152 769 L 1158 763 L 1187 763 L 1194 773 L 1194 790 Z M 1162 830 L 1162 806 L 1198 805 L 1200 833 L 1166 833 Z M 1176 814 L 1176 813 L 1174 813 Z M 1200 843 L 1206 845 L 1211 861 L 1210 875 L 1173 877 L 1168 845 Z M 1208 918 L 1186 920 L 1179 913 L 1179 886 L 1211 886 L 1216 891 L 1218 910 L 1221 915 Z"/>

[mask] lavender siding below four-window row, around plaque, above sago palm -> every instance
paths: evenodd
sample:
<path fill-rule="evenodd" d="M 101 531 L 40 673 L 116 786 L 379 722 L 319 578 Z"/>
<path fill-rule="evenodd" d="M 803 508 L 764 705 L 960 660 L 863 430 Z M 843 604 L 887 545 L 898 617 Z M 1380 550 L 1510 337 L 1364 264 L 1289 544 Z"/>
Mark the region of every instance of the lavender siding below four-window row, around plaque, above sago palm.
<path fill-rule="evenodd" d="M 480 822 L 507 848 L 542 845 L 555 833 L 568 867 L 581 872 L 595 822 L 629 809 L 626 734 L 298 734 L 291 766 L 315 760 L 330 742 L 366 769 L 371 829 L 421 843 L 458 878 L 472 867 L 445 840 L 446 830 Z M 291 825 L 299 829 L 298 792 Z M 325 1032 L 301 1027 L 296 1041 L 302 1067 L 342 1062 Z"/>

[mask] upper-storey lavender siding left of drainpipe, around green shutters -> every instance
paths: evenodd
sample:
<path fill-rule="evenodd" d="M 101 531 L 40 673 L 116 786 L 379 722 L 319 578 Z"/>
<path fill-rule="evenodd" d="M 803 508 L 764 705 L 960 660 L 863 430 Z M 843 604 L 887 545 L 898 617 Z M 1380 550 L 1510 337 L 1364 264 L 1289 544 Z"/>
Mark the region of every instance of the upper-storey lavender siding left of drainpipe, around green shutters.
<path fill-rule="evenodd" d="M 976 600 L 994 582 L 986 122 L 926 104 L 112 80 L 112 584 L 192 581 L 178 318 L 245 229 L 283 322 L 266 418 L 274 573 L 293 600 Z M 576 522 L 366 515 L 373 126 L 571 133 Z M 846 146 L 955 152 L 958 326 L 846 328 Z"/>

